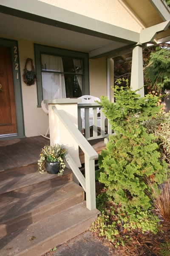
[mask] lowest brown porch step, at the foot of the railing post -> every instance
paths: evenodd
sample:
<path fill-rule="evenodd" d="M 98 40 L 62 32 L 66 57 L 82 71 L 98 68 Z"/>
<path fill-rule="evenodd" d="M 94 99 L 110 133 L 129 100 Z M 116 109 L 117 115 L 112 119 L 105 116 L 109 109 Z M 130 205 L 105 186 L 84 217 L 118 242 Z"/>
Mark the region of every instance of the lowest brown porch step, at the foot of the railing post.
<path fill-rule="evenodd" d="M 41 256 L 87 230 L 98 214 L 97 209 L 89 211 L 85 201 L 79 203 L 2 237 L 0 255 Z"/>

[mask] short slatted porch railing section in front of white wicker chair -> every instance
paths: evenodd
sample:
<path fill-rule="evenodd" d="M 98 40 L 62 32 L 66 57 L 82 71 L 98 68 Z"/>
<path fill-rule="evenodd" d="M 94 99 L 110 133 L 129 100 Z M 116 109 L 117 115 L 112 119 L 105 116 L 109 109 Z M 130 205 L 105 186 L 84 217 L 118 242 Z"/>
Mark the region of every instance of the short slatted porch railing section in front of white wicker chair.
<path fill-rule="evenodd" d="M 102 108 L 98 103 L 79 103 L 78 104 L 78 129 L 82 132 L 82 119 L 81 119 L 81 109 L 85 109 L 85 138 L 86 140 L 94 140 L 99 138 L 106 138 L 105 143 L 107 143 L 108 136 L 112 134 L 111 125 L 108 119 L 105 119 Z M 90 136 L 90 122 L 89 122 L 89 109 L 93 108 L 93 136 Z M 100 131 L 97 127 L 97 108 L 100 108 Z M 98 135 L 100 133 L 100 135 Z"/>

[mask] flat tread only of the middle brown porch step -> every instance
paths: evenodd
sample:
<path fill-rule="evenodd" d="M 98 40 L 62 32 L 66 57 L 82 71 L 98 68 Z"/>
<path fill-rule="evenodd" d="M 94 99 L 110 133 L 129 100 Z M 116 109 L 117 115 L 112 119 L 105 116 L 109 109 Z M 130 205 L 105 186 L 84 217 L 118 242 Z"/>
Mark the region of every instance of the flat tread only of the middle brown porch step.
<path fill-rule="evenodd" d="M 8 221 L 14 220 L 24 215 L 33 215 L 43 208 L 52 208 L 63 201 L 68 201 L 71 197 L 75 197 L 77 194 L 82 193 L 84 190 L 81 186 L 77 185 L 73 181 L 54 187 L 47 191 L 37 193 L 36 195 L 30 195 L 26 198 L 22 198 L 17 202 L 2 205 L 0 208 L 0 225 Z M 44 209 L 45 211 L 45 209 Z M 59 211 L 59 209 L 57 210 Z"/>

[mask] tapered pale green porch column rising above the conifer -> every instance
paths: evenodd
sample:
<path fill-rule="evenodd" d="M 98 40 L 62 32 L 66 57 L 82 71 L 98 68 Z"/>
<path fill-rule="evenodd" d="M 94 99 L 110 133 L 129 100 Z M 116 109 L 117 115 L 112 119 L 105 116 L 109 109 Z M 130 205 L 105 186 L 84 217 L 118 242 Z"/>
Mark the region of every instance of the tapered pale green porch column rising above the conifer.
<path fill-rule="evenodd" d="M 140 43 L 133 48 L 132 52 L 132 71 L 130 86 L 133 90 L 140 89 L 144 86 L 142 44 Z M 141 97 L 144 97 L 144 88 L 139 90 L 137 93 L 139 93 Z"/>

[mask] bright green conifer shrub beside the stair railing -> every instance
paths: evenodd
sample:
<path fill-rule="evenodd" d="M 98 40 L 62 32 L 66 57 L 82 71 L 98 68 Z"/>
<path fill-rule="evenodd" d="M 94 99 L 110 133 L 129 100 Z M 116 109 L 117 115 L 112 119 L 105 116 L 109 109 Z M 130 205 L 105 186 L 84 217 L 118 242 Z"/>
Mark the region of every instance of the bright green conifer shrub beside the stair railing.
<path fill-rule="evenodd" d="M 121 79 L 118 81 L 121 82 Z M 110 119 L 111 128 L 116 135 L 109 137 L 106 150 L 99 156 L 99 181 L 108 187 L 108 194 L 115 203 L 121 203 L 127 210 L 136 207 L 150 207 L 146 190 L 146 177 L 153 175 L 160 183 L 163 165 L 158 158 L 158 145 L 153 143 L 153 134 L 147 134 L 142 125 L 159 113 L 159 97 L 146 95 L 140 97 L 128 87 L 114 87 L 116 104 L 101 97 L 105 116 Z M 98 102 L 99 103 L 99 102 Z"/>

